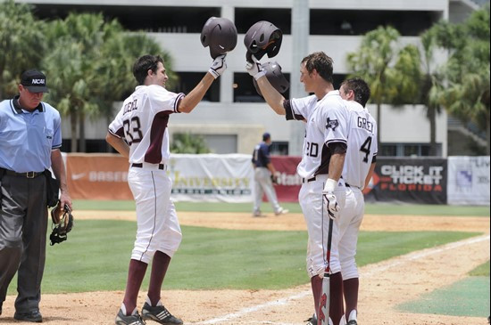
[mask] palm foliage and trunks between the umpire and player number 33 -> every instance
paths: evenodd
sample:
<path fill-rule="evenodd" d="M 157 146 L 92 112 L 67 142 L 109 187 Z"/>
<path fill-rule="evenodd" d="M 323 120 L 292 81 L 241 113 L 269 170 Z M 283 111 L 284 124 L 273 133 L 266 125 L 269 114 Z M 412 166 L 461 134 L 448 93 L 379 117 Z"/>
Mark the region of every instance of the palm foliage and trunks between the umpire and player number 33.
<path fill-rule="evenodd" d="M 71 151 L 85 151 L 85 118 L 96 115 L 96 67 L 103 58 L 106 40 L 119 32 L 117 24 L 106 28 L 102 14 L 71 13 L 46 28 L 51 45 L 43 66 L 54 75 L 55 89 L 47 95 L 62 115 L 71 120 Z M 121 29 L 121 28 L 120 28 Z M 107 53 L 105 53 L 107 54 Z M 77 126 L 79 136 L 77 134 Z M 80 139 L 78 148 L 77 139 Z"/>

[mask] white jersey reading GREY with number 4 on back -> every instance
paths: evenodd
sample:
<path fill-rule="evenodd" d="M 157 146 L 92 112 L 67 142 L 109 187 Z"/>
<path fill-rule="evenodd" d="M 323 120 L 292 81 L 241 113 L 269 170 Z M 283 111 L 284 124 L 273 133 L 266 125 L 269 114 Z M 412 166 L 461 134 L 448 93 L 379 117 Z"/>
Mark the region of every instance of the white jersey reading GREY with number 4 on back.
<path fill-rule="evenodd" d="M 342 175 L 345 183 L 363 189 L 371 162 L 377 156 L 377 122 L 358 102 L 345 104 L 349 110 L 349 129 Z"/>

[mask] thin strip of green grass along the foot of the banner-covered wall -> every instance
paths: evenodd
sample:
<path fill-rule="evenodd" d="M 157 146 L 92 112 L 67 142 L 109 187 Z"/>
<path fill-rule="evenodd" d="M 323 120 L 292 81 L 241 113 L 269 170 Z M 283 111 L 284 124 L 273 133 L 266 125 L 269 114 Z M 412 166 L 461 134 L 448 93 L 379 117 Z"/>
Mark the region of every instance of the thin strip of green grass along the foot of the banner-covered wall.
<path fill-rule="evenodd" d="M 298 203 L 282 203 L 291 212 L 301 213 Z M 73 207 L 79 210 L 135 210 L 132 200 L 74 200 Z M 252 212 L 252 203 L 223 202 L 176 202 L 178 211 L 204 212 Z M 262 203 L 262 211 L 271 213 L 268 202 Z M 367 203 L 366 214 L 377 215 L 475 215 L 489 217 L 489 206 L 445 206 L 425 204 Z"/>

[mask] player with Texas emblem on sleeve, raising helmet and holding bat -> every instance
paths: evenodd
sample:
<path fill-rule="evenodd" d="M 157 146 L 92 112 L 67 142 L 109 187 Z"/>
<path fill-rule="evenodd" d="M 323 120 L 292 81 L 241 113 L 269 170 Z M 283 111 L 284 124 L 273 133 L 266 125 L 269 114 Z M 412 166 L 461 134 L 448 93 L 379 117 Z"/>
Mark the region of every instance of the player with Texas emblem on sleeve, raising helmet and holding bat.
<path fill-rule="evenodd" d="M 247 62 L 245 67 L 257 81 L 271 109 L 285 115 L 287 120 L 306 123 L 302 160 L 297 167 L 297 173 L 303 179 L 298 200 L 309 234 L 307 272 L 311 277 L 314 310 L 317 310 L 327 265 L 325 234 L 329 230 L 329 215 L 336 216 L 338 207 L 345 203 L 345 182 L 340 177 L 345 161 L 348 110 L 339 92 L 334 90 L 333 61 L 325 53 L 312 53 L 301 62 L 300 81 L 307 93 L 314 94 L 290 100 L 270 85 L 260 63 L 254 56 L 252 59 L 253 62 Z M 325 201 L 323 196 L 327 198 Z M 337 229 L 333 227 L 333 238 L 335 236 Z M 335 245 L 332 255 L 334 251 Z M 331 267 L 331 271 L 329 318 L 332 324 L 345 324 L 341 269 Z M 333 296 L 333 292 L 339 294 Z"/>

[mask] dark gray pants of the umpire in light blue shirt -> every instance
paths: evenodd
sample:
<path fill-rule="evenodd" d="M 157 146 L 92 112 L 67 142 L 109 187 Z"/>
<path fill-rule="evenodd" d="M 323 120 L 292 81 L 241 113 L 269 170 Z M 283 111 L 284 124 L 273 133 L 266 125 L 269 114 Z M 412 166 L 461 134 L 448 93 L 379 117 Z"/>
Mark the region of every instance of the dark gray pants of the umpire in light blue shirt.
<path fill-rule="evenodd" d="M 0 305 L 18 272 L 15 310 L 37 311 L 46 259 L 46 177 L 4 175 L 0 191 Z"/>

